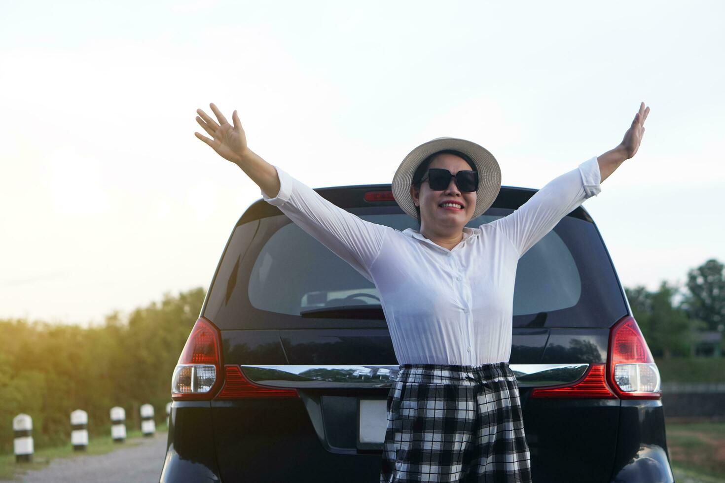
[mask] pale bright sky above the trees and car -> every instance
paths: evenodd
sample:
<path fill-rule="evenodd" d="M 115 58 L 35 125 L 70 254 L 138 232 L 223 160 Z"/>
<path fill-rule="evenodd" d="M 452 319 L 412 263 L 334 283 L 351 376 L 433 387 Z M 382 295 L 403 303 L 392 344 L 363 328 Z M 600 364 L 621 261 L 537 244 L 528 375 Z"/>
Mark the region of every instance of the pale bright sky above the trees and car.
<path fill-rule="evenodd" d="M 0 319 L 96 324 L 206 289 L 261 198 L 194 136 L 313 188 L 391 182 L 452 136 L 541 188 L 621 142 L 587 199 L 621 282 L 725 261 L 721 1 L 36 1 L 0 5 Z"/>

